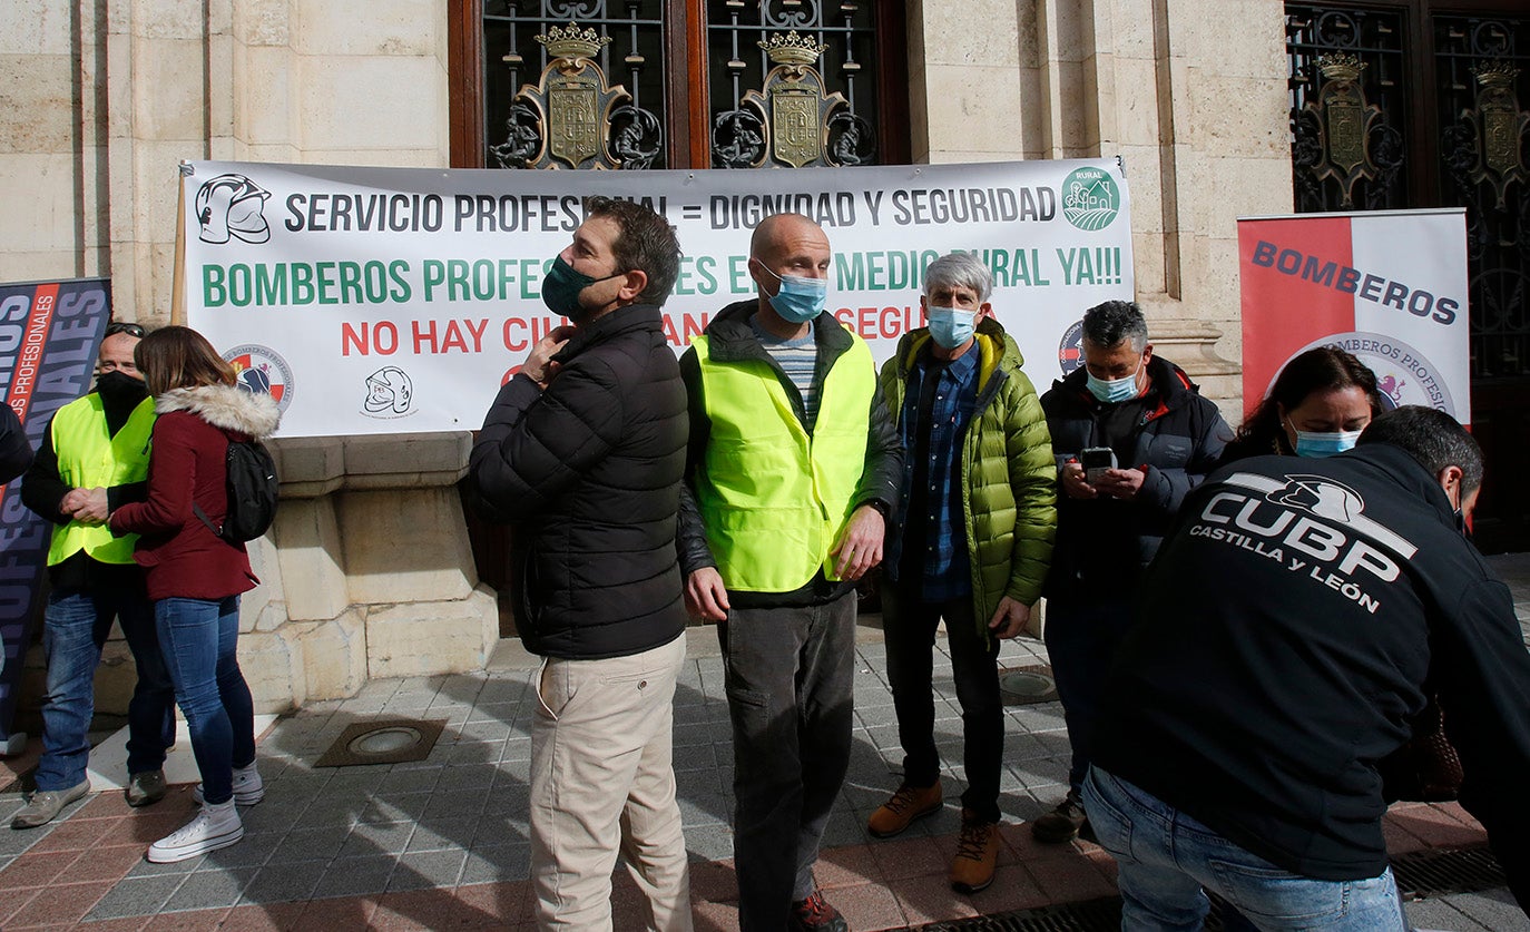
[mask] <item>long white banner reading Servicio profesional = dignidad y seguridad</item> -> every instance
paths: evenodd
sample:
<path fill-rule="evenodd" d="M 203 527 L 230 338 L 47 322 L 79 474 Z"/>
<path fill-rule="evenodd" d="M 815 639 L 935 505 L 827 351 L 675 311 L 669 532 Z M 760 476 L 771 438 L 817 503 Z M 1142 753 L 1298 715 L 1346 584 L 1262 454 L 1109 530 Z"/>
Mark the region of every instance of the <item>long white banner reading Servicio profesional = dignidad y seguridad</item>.
<path fill-rule="evenodd" d="M 477 429 L 499 386 L 558 326 L 542 279 L 591 194 L 676 228 L 664 308 L 682 352 L 754 294 L 750 236 L 796 211 L 829 236 L 829 309 L 878 360 L 923 326 L 924 268 L 961 249 L 1045 390 L 1080 363 L 1077 321 L 1132 297 L 1115 159 L 796 171 L 491 171 L 185 162 L 187 323 L 283 407 L 280 436 Z"/>

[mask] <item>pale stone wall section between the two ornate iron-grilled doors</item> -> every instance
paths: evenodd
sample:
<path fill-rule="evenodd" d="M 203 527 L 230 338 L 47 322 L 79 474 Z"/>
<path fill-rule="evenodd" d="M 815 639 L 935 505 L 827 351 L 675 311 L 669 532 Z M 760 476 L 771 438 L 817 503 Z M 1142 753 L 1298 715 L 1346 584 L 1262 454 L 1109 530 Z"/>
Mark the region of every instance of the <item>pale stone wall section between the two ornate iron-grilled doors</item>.
<path fill-rule="evenodd" d="M 1233 422 L 1236 219 L 1291 210 L 1282 23 L 1268 0 L 909 5 L 913 159 L 1120 155 L 1155 350 Z"/>

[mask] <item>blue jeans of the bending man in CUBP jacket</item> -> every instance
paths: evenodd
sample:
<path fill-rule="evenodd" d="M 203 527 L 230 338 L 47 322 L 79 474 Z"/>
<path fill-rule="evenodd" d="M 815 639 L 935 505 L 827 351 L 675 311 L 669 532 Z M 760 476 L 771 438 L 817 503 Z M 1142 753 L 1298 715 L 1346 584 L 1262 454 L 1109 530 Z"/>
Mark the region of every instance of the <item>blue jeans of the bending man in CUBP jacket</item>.
<path fill-rule="evenodd" d="M 1200 929 L 1207 889 L 1265 930 L 1409 929 L 1391 868 L 1368 880 L 1291 874 L 1099 767 L 1083 782 L 1083 808 L 1118 866 L 1121 929 Z"/>

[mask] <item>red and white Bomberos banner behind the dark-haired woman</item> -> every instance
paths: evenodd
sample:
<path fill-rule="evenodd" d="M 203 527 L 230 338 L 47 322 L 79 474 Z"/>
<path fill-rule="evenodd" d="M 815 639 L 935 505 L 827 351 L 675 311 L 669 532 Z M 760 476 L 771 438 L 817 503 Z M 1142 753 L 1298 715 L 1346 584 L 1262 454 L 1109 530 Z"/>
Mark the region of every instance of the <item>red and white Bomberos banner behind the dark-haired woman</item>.
<path fill-rule="evenodd" d="M 1337 346 L 1385 404 L 1472 422 L 1463 208 L 1244 217 L 1238 271 L 1244 410 L 1291 357 Z"/>

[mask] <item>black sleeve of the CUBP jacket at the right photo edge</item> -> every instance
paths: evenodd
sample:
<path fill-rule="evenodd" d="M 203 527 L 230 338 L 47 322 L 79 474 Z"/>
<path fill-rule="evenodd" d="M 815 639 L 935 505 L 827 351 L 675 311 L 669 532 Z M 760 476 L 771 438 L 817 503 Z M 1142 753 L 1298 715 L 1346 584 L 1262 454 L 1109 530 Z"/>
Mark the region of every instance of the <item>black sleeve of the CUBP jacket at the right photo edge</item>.
<path fill-rule="evenodd" d="M 1509 889 L 1530 914 L 1530 653 L 1513 598 L 1483 580 L 1434 626 L 1432 675 L 1444 730 L 1461 754 L 1461 805 L 1487 828 Z"/>

